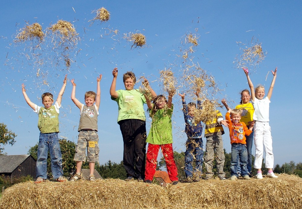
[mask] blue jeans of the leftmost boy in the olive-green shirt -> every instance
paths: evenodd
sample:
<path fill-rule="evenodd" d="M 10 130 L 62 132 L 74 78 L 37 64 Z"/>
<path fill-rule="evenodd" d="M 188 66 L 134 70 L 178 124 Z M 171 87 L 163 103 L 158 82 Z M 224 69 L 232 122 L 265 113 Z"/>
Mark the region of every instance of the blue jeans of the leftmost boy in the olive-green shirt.
<path fill-rule="evenodd" d="M 47 179 L 47 154 L 48 150 L 51 159 L 51 173 L 53 179 L 63 176 L 62 154 L 58 139 L 58 133 L 40 133 L 38 145 L 38 160 L 36 163 L 37 177 Z"/>

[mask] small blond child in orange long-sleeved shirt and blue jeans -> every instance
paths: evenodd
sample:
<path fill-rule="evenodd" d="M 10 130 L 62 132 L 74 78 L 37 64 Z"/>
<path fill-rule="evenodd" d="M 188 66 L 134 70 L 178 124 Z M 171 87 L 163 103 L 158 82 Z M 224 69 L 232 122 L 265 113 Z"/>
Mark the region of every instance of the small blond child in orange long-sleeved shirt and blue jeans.
<path fill-rule="evenodd" d="M 244 122 L 240 122 L 241 110 L 229 109 L 226 113 L 226 120 L 229 124 L 230 139 L 231 139 L 231 180 L 238 178 L 237 165 L 240 162 L 241 174 L 243 179 L 249 180 L 247 170 L 247 150 L 246 150 L 246 135 L 249 136 L 253 132 L 252 122 L 250 128 L 246 127 Z"/>

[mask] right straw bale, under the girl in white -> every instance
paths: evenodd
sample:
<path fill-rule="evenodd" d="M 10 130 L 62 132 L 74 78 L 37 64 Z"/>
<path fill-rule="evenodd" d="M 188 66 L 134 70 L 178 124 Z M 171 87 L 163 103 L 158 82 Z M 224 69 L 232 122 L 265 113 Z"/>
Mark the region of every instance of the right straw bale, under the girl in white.
<path fill-rule="evenodd" d="M 169 186 L 167 195 L 174 208 L 302 208 L 302 179 L 278 176 L 180 183 Z"/>

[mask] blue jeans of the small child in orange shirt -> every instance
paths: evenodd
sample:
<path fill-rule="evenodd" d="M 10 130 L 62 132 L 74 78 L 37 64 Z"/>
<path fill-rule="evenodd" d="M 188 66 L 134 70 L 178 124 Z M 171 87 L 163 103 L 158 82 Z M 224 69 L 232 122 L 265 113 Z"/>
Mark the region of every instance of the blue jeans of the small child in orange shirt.
<path fill-rule="evenodd" d="M 248 175 L 247 172 L 247 150 L 246 144 L 232 144 L 231 151 L 231 176 L 237 176 L 237 164 L 240 162 L 241 176 Z"/>

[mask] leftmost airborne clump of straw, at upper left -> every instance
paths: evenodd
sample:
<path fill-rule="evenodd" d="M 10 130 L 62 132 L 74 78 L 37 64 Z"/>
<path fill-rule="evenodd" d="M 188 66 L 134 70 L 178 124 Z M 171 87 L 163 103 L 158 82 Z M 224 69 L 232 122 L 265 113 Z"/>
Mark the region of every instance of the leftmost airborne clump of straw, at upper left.
<path fill-rule="evenodd" d="M 15 42 L 33 40 L 37 38 L 40 42 L 43 40 L 44 33 L 42 26 L 39 23 L 25 26 L 20 33 L 16 36 Z"/>

